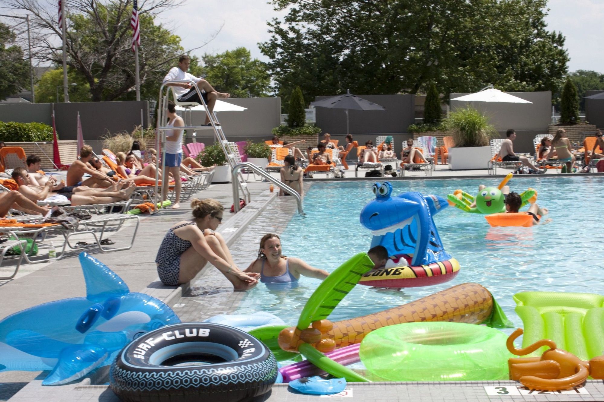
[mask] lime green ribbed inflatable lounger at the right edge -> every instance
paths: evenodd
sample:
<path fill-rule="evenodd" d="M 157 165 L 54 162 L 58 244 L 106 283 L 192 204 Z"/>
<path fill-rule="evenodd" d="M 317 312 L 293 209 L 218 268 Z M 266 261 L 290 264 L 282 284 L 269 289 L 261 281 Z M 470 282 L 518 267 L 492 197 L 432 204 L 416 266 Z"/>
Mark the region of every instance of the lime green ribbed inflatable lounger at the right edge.
<path fill-rule="evenodd" d="M 522 347 L 541 339 L 581 360 L 604 354 L 604 296 L 593 293 L 521 292 L 514 295 L 524 324 Z M 528 357 L 541 356 L 543 346 Z"/>

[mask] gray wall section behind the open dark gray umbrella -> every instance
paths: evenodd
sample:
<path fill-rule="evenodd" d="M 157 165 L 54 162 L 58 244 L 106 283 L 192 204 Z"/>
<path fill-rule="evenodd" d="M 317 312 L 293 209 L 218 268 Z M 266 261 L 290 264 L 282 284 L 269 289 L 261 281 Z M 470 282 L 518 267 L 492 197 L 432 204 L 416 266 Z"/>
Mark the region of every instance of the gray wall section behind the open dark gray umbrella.
<path fill-rule="evenodd" d="M 415 95 L 358 95 L 385 107 L 381 110 L 349 110 L 350 133 L 388 135 L 406 133 L 414 123 Z M 330 97 L 316 97 L 323 100 Z M 346 113 L 344 109 L 316 108 L 316 125 L 332 136 L 346 135 Z M 355 138 L 356 139 L 356 138 Z M 357 139 L 358 141 L 358 139 Z M 375 141 L 375 138 L 373 138 Z M 359 144 L 361 141 L 359 141 Z"/>

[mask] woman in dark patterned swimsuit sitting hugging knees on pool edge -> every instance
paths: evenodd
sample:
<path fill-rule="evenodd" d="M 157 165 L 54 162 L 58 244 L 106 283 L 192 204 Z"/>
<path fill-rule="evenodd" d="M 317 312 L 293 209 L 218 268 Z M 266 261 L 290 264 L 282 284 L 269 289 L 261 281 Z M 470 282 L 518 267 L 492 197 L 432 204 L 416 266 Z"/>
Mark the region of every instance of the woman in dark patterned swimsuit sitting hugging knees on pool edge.
<path fill-rule="evenodd" d="M 168 229 L 159 246 L 155 263 L 164 285 L 176 286 L 191 281 L 206 263 L 212 264 L 231 281 L 236 290 L 257 284 L 257 273 L 243 273 L 235 263 L 222 235 L 216 228 L 222 223 L 224 207 L 217 200 L 193 199 L 193 219 Z"/>

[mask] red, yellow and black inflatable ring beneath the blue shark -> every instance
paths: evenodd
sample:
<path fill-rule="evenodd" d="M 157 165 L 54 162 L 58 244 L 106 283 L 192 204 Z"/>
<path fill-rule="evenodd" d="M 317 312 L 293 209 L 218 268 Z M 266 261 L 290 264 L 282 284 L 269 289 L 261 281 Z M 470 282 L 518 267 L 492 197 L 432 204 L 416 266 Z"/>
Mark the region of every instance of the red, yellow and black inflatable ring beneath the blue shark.
<path fill-rule="evenodd" d="M 375 287 L 432 286 L 450 281 L 457 276 L 458 272 L 459 263 L 455 258 L 451 258 L 429 265 L 406 265 L 371 270 L 361 277 L 359 285 Z"/>

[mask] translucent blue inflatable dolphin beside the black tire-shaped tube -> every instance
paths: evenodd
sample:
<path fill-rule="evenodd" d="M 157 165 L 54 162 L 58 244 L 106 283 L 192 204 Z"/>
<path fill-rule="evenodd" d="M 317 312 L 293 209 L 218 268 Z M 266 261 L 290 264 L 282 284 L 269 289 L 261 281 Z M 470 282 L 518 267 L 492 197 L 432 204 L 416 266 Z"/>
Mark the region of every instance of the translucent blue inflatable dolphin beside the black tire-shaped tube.
<path fill-rule="evenodd" d="M 0 371 L 51 370 L 43 385 L 59 385 L 110 365 L 131 340 L 181 322 L 152 296 L 132 293 L 91 255 L 80 254 L 86 297 L 63 299 L 0 321 Z"/>

